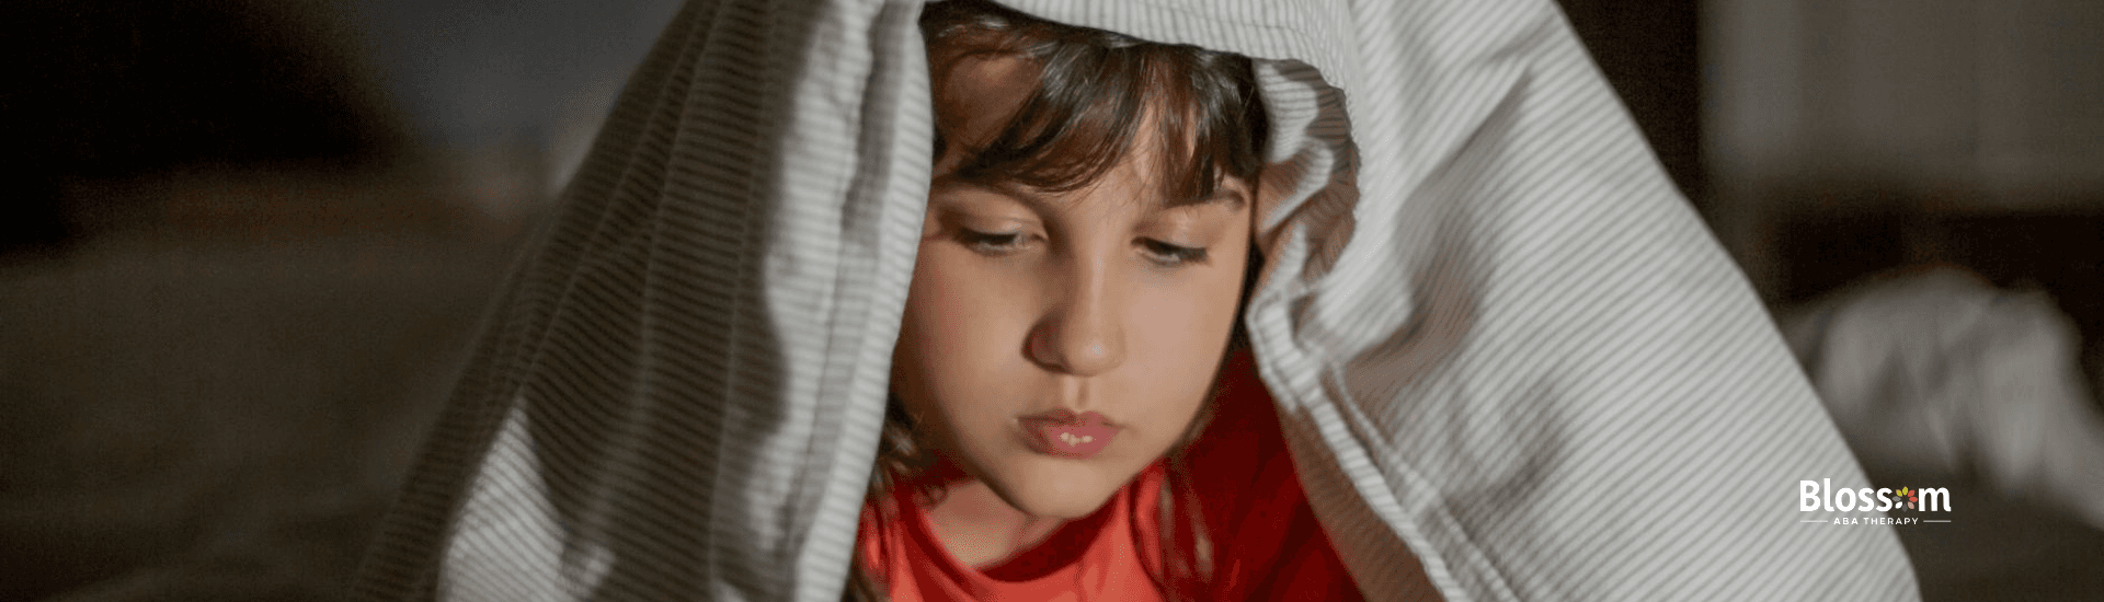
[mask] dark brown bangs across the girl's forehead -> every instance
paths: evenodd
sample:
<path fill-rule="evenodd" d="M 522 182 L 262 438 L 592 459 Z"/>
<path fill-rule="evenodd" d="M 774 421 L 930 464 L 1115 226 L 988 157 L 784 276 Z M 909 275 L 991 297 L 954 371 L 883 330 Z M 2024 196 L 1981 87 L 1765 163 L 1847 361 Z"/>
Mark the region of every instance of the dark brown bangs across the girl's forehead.
<path fill-rule="evenodd" d="M 951 61 L 1014 55 L 1037 67 L 1035 91 L 1006 126 L 985 145 L 962 149 L 968 156 L 957 177 L 1071 192 L 1140 152 L 1134 143 L 1145 137 L 1157 141 L 1145 154 L 1155 162 L 1149 177 L 1164 200 L 1212 198 L 1225 177 L 1256 181 L 1269 122 L 1250 59 L 1020 13 L 945 19 L 938 11 L 945 4 L 966 2 L 928 8 L 930 48 L 947 48 Z M 936 156 L 945 152 L 947 137 L 938 133 Z"/>

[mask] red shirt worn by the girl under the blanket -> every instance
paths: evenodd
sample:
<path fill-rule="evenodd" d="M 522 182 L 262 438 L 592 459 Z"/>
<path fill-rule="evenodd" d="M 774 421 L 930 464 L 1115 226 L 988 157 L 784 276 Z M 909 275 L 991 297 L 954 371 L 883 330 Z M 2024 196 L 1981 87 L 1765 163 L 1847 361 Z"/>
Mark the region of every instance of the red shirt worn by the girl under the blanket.
<path fill-rule="evenodd" d="M 1187 450 L 1212 579 L 1187 600 L 1357 600 L 1359 589 L 1315 522 L 1286 453 L 1271 396 L 1248 356 L 1220 375 L 1214 417 Z M 993 566 L 966 566 L 943 549 L 924 507 L 901 488 L 890 520 L 863 509 L 865 570 L 892 600 L 1164 600 L 1157 503 L 1168 465 L 1142 469 L 1088 518 Z M 1189 511 L 1189 507 L 1178 507 Z"/>

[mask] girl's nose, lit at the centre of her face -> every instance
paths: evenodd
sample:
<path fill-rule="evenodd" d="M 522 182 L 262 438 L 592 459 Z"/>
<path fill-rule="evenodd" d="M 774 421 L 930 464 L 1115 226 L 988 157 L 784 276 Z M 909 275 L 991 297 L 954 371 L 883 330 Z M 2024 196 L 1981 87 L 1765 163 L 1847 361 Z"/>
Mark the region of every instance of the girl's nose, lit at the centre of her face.
<path fill-rule="evenodd" d="M 1058 303 L 1037 322 L 1029 356 L 1050 370 L 1094 377 L 1126 362 L 1124 295 L 1109 261 L 1075 261 Z"/>

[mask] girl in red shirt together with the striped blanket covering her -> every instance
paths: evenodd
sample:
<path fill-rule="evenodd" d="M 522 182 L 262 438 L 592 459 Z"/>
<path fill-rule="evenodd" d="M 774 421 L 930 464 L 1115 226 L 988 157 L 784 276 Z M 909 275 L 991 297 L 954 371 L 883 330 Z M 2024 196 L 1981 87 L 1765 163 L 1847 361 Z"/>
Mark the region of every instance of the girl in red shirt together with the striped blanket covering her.
<path fill-rule="evenodd" d="M 692 2 L 360 591 L 1915 598 L 1553 4 L 1193 4 Z"/>

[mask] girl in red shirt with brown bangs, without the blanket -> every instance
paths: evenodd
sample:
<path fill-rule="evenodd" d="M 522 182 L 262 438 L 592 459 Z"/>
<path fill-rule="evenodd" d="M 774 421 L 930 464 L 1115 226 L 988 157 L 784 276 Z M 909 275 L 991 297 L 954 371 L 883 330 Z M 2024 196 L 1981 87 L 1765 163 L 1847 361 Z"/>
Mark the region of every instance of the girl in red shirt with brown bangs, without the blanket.
<path fill-rule="evenodd" d="M 1206 408 L 1254 265 L 1250 61 L 987 2 L 922 29 L 936 162 L 861 598 L 1357 596 L 1269 400 Z"/>

